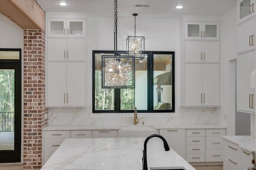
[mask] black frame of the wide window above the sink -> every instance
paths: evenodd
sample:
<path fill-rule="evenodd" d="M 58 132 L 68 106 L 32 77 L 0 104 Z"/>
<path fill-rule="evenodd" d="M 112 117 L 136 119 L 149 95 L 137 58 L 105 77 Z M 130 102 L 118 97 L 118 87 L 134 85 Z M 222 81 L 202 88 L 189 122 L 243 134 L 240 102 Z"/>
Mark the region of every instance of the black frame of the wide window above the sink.
<path fill-rule="evenodd" d="M 114 110 L 95 110 L 95 54 L 114 54 L 114 51 L 92 51 L 92 113 L 133 113 L 134 110 L 120 110 L 120 89 L 114 89 Z M 119 54 L 125 54 L 126 51 L 118 51 Z M 147 75 L 148 75 L 148 98 L 147 110 L 138 110 L 138 113 L 173 113 L 175 112 L 175 52 L 174 51 L 144 51 L 147 54 Z M 154 110 L 154 54 L 172 55 L 172 110 Z M 136 68 L 135 68 L 136 69 Z M 151 82 L 151 83 L 150 83 Z M 117 101 L 117 102 L 116 102 Z"/>

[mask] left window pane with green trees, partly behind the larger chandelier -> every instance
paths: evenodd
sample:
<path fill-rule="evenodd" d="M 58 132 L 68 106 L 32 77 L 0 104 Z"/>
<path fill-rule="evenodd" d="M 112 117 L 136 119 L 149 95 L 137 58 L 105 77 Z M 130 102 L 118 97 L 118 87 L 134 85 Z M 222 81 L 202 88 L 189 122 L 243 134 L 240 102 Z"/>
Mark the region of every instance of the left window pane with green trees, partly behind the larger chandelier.
<path fill-rule="evenodd" d="M 95 110 L 114 110 L 114 89 L 101 88 L 101 56 L 95 54 Z"/>

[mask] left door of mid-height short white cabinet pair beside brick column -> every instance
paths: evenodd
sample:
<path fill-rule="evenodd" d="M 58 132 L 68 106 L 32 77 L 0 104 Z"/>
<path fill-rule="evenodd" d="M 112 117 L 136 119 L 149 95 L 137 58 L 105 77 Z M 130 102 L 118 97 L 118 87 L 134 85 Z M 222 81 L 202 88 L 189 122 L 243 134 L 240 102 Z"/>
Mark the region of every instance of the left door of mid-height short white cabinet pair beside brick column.
<path fill-rule="evenodd" d="M 47 61 L 66 61 L 66 39 L 47 39 Z"/>

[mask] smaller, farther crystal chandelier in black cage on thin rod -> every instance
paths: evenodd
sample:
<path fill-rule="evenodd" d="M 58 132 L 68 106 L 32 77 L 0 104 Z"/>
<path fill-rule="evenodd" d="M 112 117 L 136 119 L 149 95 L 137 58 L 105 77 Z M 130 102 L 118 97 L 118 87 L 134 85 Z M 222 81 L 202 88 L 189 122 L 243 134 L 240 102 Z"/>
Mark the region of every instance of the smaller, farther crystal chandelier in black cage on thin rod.
<path fill-rule="evenodd" d="M 128 36 L 126 39 L 126 54 L 134 55 L 135 60 L 144 59 L 144 37 L 136 36 L 136 16 L 134 16 L 134 36 Z"/>

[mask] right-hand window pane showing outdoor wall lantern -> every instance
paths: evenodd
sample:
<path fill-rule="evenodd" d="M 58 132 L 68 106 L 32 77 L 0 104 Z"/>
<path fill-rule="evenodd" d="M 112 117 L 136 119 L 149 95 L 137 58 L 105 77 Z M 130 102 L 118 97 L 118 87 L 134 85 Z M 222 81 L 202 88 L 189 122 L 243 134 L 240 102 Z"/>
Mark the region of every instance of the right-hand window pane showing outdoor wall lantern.
<path fill-rule="evenodd" d="M 154 110 L 172 109 L 172 55 L 154 54 Z"/>

